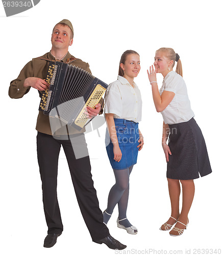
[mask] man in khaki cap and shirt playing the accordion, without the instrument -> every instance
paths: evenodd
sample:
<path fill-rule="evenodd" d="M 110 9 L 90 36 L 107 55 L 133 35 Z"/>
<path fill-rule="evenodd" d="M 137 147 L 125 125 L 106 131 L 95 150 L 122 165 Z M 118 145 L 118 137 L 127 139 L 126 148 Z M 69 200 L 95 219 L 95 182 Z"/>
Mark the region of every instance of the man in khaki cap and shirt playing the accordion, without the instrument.
<path fill-rule="evenodd" d="M 11 98 L 23 97 L 31 87 L 38 90 L 41 97 L 49 86 L 45 78 L 48 62 L 52 60 L 69 63 L 91 73 L 88 63 L 73 57 L 68 52 L 68 48 L 73 42 L 73 28 L 69 20 L 63 19 L 56 24 L 51 41 L 51 51 L 41 57 L 32 59 L 24 66 L 19 76 L 11 81 L 9 88 Z M 87 107 L 88 118 L 102 114 L 101 103 L 102 101 L 95 105 L 95 109 Z M 52 127 L 52 123 L 54 127 Z M 93 186 L 84 130 L 77 131 L 74 127 L 67 127 L 67 125 L 60 125 L 57 129 L 57 124 L 52 123 L 47 115 L 39 111 L 36 124 L 36 130 L 38 131 L 37 156 L 42 181 L 44 213 L 48 226 L 43 246 L 54 246 L 63 231 L 57 199 L 58 158 L 62 145 L 77 200 L 92 241 L 99 244 L 105 243 L 111 249 L 126 248 L 126 245 L 122 245 L 110 236 L 107 226 L 103 223 L 103 214 L 98 206 L 96 190 Z M 78 230 L 73 230 L 73 232 L 77 233 Z"/>

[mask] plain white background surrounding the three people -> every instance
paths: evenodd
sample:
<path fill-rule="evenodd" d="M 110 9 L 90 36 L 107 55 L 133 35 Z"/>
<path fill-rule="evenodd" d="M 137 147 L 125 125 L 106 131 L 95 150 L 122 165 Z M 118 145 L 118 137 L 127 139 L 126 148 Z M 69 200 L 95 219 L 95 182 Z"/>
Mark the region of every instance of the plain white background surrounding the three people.
<path fill-rule="evenodd" d="M 140 130 L 144 147 L 130 181 L 128 218 L 138 228 L 131 236 L 116 226 L 117 207 L 108 223 L 111 235 L 127 249 L 119 254 L 160 254 L 169 250 L 221 248 L 221 11 L 220 1 L 46 1 L 6 17 L 1 24 L 1 255 L 113 255 L 106 245 L 91 242 L 72 187 L 63 151 L 60 154 L 58 199 L 64 231 L 53 248 L 43 248 L 47 234 L 36 155 L 36 118 L 40 98 L 32 89 L 22 99 L 8 96 L 10 81 L 33 57 L 51 49 L 51 34 L 63 18 L 72 22 L 69 52 L 90 65 L 106 83 L 117 78 L 121 54 L 140 54 L 135 79 L 143 100 Z M 183 77 L 195 120 L 204 134 L 213 173 L 195 180 L 189 225 L 183 236 L 170 237 L 159 227 L 170 216 L 166 162 L 161 147 L 162 116 L 154 108 L 146 69 L 155 51 L 171 47 L 180 55 Z M 162 76 L 158 75 L 159 86 Z M 86 134 L 94 186 L 100 207 L 114 184 L 105 148 L 104 124 Z M 151 250 L 156 250 L 151 251 Z M 146 253 L 147 253 L 146 251 Z"/>

